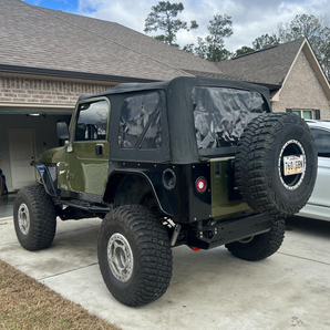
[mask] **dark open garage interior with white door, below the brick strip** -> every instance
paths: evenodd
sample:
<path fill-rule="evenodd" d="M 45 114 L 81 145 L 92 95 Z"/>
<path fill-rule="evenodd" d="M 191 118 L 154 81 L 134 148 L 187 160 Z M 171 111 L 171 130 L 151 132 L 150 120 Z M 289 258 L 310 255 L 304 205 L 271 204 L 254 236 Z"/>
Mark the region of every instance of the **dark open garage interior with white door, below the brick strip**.
<path fill-rule="evenodd" d="M 32 161 L 48 148 L 60 145 L 56 123 L 70 122 L 71 110 L 1 109 L 0 168 L 9 192 L 35 184 Z"/>

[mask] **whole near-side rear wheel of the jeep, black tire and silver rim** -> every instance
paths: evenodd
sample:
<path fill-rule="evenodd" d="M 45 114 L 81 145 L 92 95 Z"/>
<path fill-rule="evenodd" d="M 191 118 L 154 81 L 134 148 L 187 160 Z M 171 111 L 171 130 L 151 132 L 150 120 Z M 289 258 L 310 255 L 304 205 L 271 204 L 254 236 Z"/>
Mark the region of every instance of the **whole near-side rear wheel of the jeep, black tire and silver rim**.
<path fill-rule="evenodd" d="M 120 302 L 136 307 L 162 297 L 172 277 L 166 228 L 145 207 L 121 206 L 102 221 L 99 264 L 104 282 Z"/>

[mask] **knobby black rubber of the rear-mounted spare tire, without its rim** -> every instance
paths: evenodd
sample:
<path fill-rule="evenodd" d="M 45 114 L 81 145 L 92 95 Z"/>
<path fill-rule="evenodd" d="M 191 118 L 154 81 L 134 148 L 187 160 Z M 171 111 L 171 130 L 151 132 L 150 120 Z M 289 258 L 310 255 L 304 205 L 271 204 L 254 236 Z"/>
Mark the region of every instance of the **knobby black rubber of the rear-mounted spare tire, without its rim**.
<path fill-rule="evenodd" d="M 306 195 L 298 205 L 281 202 L 279 193 L 270 189 L 269 178 L 274 175 L 267 157 L 271 145 L 283 127 L 300 125 L 310 134 L 306 122 L 295 114 L 271 113 L 260 115 L 244 131 L 237 144 L 235 177 L 243 199 L 255 210 L 272 218 L 285 218 L 298 213 L 308 202 Z"/>

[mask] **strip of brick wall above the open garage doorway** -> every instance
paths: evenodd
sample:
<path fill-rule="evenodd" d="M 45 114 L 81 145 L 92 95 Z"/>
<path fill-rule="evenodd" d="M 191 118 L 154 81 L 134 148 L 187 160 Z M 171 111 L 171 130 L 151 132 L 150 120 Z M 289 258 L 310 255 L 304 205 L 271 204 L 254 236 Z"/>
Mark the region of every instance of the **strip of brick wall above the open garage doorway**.
<path fill-rule="evenodd" d="M 106 83 L 95 84 L 0 76 L 0 102 L 73 105 L 81 94 L 101 93 L 111 86 Z"/>

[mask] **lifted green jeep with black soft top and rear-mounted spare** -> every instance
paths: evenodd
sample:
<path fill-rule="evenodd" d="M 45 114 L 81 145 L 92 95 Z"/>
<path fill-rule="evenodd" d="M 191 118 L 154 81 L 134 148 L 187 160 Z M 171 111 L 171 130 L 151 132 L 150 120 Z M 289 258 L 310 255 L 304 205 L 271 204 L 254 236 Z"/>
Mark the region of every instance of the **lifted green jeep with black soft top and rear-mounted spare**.
<path fill-rule="evenodd" d="M 58 134 L 64 146 L 32 164 L 42 184 L 17 195 L 18 239 L 43 249 L 56 217 L 103 218 L 101 272 L 132 307 L 165 293 L 172 247 L 225 245 L 251 261 L 275 254 L 317 176 L 305 121 L 271 113 L 269 91 L 239 81 L 120 84 L 82 95 Z"/>

